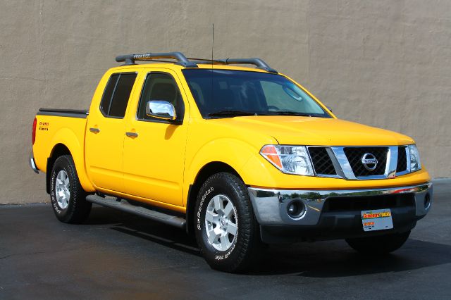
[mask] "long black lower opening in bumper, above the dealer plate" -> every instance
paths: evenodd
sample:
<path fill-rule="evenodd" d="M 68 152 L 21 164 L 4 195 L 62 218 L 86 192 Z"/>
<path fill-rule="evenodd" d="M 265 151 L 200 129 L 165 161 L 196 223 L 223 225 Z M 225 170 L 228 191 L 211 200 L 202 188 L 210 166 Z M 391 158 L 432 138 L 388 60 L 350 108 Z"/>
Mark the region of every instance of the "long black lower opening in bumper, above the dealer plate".
<path fill-rule="evenodd" d="M 326 200 L 323 211 L 369 211 L 371 209 L 414 206 L 413 194 L 333 197 Z"/>

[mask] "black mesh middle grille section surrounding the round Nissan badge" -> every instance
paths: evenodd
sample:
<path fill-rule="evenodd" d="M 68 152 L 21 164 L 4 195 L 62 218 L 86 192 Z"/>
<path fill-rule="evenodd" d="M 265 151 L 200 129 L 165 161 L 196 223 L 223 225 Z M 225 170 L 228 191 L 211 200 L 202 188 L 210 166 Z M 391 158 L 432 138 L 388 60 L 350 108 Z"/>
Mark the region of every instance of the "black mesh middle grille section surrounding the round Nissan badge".
<path fill-rule="evenodd" d="M 356 177 L 383 175 L 385 173 L 388 147 L 345 147 L 343 150 Z M 376 157 L 378 161 L 376 169 L 367 170 L 365 168 L 362 157 L 366 153 L 373 154 Z"/>

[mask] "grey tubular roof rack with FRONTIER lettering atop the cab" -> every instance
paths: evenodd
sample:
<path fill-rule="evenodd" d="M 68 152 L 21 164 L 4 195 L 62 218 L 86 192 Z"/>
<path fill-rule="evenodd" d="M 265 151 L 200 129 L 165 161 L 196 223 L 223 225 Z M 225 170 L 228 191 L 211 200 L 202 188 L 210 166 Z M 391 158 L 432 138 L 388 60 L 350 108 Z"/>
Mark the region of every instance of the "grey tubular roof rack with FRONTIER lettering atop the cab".
<path fill-rule="evenodd" d="M 171 58 L 174 59 L 178 65 L 183 65 L 185 68 L 197 68 L 197 63 L 211 63 L 214 65 L 255 65 L 261 70 L 266 70 L 270 73 L 277 73 L 261 58 L 226 58 L 226 59 L 204 59 L 204 58 L 187 58 L 180 52 L 166 52 L 166 53 L 147 53 L 147 54 L 125 54 L 116 56 L 116 61 L 123 61 L 123 65 L 134 65 L 135 61 L 157 61 L 159 59 Z M 192 60 L 192 61 L 190 61 Z M 166 61 L 167 62 L 167 61 Z"/>

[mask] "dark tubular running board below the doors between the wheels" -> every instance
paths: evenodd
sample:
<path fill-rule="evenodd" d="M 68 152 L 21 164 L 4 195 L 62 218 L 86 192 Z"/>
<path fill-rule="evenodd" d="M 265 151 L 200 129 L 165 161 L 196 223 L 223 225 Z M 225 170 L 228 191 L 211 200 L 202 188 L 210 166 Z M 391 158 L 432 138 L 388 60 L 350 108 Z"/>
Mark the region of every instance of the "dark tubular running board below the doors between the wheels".
<path fill-rule="evenodd" d="M 168 215 L 166 213 L 160 213 L 159 211 L 152 211 L 151 209 L 144 208 L 142 206 L 134 206 L 125 201 L 117 201 L 116 198 L 112 197 L 102 198 L 101 196 L 97 195 L 89 195 L 86 197 L 86 200 L 95 204 L 99 204 L 101 206 L 116 208 L 119 211 L 133 213 L 150 220 L 185 229 L 186 220 L 184 218 L 176 217 L 175 215 Z"/>

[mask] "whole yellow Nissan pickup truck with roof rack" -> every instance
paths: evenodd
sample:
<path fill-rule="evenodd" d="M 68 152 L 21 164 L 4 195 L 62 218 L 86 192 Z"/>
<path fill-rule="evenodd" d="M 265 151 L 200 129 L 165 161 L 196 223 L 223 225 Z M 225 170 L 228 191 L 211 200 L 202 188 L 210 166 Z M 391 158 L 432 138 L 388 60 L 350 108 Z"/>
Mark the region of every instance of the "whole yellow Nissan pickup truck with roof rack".
<path fill-rule="evenodd" d="M 62 222 L 92 203 L 128 211 L 192 232 L 211 268 L 237 272 L 265 244 L 395 251 L 431 209 L 413 139 L 339 120 L 259 58 L 116 61 L 89 111 L 41 108 L 33 123 L 30 165 Z"/>

